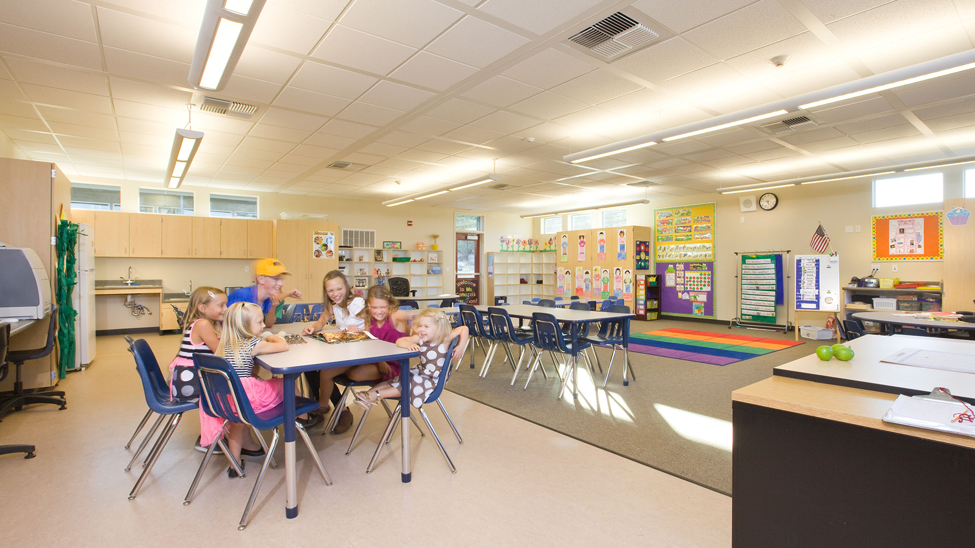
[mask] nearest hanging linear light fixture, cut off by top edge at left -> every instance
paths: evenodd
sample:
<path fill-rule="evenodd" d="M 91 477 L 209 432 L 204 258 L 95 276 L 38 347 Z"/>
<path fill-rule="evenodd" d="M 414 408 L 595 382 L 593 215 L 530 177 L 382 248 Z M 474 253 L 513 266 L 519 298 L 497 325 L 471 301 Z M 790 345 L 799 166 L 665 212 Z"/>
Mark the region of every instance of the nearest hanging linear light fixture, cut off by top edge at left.
<path fill-rule="evenodd" d="M 264 0 L 207 0 L 189 83 L 199 90 L 223 89 L 247 46 Z"/>

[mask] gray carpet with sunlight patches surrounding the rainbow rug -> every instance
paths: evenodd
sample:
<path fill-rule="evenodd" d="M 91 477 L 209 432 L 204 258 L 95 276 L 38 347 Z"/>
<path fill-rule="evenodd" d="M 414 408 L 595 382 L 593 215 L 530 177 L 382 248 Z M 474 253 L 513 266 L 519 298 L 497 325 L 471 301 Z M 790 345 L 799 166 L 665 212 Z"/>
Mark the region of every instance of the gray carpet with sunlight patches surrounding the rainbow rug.
<path fill-rule="evenodd" d="M 692 320 L 657 320 L 633 322 L 632 333 L 667 328 L 727 332 L 726 325 Z M 738 328 L 735 331 L 788 340 L 794 336 L 793 333 Z M 477 367 L 470 369 L 469 354 L 465 356 L 460 370 L 450 377 L 447 388 L 698 485 L 730 494 L 728 423 L 731 421 L 731 392 L 770 376 L 775 366 L 815 352 L 818 346 L 816 341 L 800 340 L 806 343 L 723 367 L 631 352 L 630 363 L 637 380 L 631 381 L 629 386 L 622 385 L 622 358 L 617 355 L 606 391 L 593 387 L 591 376 L 588 370 L 583 371 L 584 362 L 580 360 L 581 395 L 576 402 L 572 401 L 567 389 L 561 401 L 556 399 L 560 382 L 552 372 L 547 355 L 544 360 L 549 369 L 549 378 L 545 379 L 540 372 L 536 372 L 527 389 L 523 390 L 526 373 L 521 372 L 515 386 L 510 386 L 512 369 L 503 363 L 501 350 L 498 350 L 487 378 L 480 378 L 478 372 L 484 355 L 479 351 Z M 599 349 L 598 352 L 605 368 L 609 351 Z M 599 374 L 598 377 L 599 386 L 602 387 L 603 377 Z M 682 431 L 683 436 L 675 427 Z M 722 449 L 709 445 L 709 440 L 717 440 L 715 445 Z M 558 463 L 547 465 L 557 466 Z"/>

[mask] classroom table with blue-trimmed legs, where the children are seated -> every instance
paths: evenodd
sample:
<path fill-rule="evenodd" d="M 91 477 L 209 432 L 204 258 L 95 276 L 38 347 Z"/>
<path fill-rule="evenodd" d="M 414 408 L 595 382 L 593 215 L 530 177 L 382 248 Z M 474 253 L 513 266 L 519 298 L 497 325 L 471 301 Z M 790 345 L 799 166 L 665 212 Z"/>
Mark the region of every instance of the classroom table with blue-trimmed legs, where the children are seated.
<path fill-rule="evenodd" d="M 301 333 L 310 324 L 296 323 L 281 326 L 280 331 L 286 333 Z M 275 333 L 280 333 L 275 330 Z M 334 328 L 324 332 L 337 331 Z M 287 352 L 278 354 L 262 354 L 254 356 L 254 363 L 269 372 L 284 376 L 284 407 L 285 407 L 285 517 L 292 519 L 298 515 L 297 478 L 294 468 L 294 379 L 302 372 L 319 371 L 332 368 L 344 368 L 361 364 L 374 364 L 398 360 L 401 371 L 409 371 L 409 358 L 419 356 L 419 352 L 400 348 L 384 340 L 361 340 L 329 344 L 306 336 L 307 344 L 292 344 Z M 400 401 L 403 407 L 401 424 L 402 448 L 402 480 L 409 483 L 409 375 L 401 378 L 403 382 Z M 405 431 L 405 432 L 404 432 Z"/>

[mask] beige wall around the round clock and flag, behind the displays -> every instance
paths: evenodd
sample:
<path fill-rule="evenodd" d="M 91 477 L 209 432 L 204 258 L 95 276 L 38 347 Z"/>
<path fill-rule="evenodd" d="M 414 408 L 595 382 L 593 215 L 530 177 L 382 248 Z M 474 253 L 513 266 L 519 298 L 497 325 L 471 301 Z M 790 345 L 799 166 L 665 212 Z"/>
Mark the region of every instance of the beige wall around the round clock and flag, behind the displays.
<path fill-rule="evenodd" d="M 945 174 L 945 200 L 948 205 L 960 202 L 962 195 L 962 173 L 975 165 L 951 166 L 943 168 Z M 718 261 L 716 264 L 716 316 L 730 320 L 737 316 L 735 294 L 737 285 L 735 274 L 737 263 L 735 252 L 761 252 L 770 250 L 792 250 L 793 254 L 814 254 L 809 248 L 809 240 L 818 221 L 832 239 L 833 251 L 839 253 L 840 283 L 845 285 L 852 276 L 866 276 L 870 273 L 872 215 L 891 215 L 939 211 L 946 204 L 927 204 L 900 208 L 873 208 L 873 190 L 870 178 L 822 182 L 810 185 L 797 185 L 771 190 L 779 197 L 779 205 L 771 212 L 761 211 L 742 213 L 738 198 L 740 196 L 761 195 L 761 192 L 741 194 L 704 194 L 690 197 L 661 197 L 654 199 L 649 194 L 650 203 L 645 206 L 631 206 L 627 210 L 627 224 L 652 226 L 653 210 L 670 206 L 717 202 Z M 971 208 L 969 208 L 971 209 Z M 597 212 L 598 215 L 598 212 Z M 597 216 L 597 219 L 600 217 Z M 744 222 L 742 222 L 744 218 Z M 568 215 L 564 215 L 564 226 L 568 227 Z M 846 233 L 846 226 L 859 225 L 859 233 Z M 534 232 L 540 233 L 541 219 L 534 222 Z M 892 272 L 892 266 L 898 272 Z M 879 263 L 879 276 L 899 277 L 912 281 L 940 281 L 943 278 L 942 261 L 898 261 Z M 975 278 L 973 278 L 975 282 Z M 795 283 L 795 279 L 792 283 Z M 804 317 L 803 317 L 804 318 Z M 792 313 L 790 313 L 790 321 Z M 805 321 L 803 324 L 815 324 Z M 821 324 L 821 322 L 820 322 Z"/>

